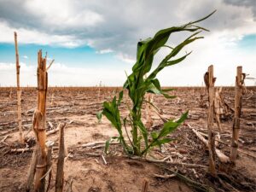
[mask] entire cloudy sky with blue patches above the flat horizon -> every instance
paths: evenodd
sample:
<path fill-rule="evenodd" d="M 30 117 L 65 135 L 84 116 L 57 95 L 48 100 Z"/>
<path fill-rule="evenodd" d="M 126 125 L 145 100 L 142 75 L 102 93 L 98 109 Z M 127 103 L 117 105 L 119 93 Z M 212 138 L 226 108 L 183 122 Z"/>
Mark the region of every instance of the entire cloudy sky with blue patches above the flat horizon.
<path fill-rule="evenodd" d="M 49 86 L 121 86 L 136 62 L 138 41 L 215 9 L 200 23 L 210 32 L 183 50 L 193 51 L 185 61 L 158 74 L 161 85 L 201 86 L 209 65 L 216 85 L 234 85 L 237 66 L 256 78 L 255 0 L 0 0 L 0 85 L 16 84 L 14 32 L 22 86 L 37 84 L 38 49 L 47 52 L 48 63 L 55 59 Z M 168 44 L 188 36 L 174 34 Z M 166 53 L 160 50 L 153 67 Z"/>

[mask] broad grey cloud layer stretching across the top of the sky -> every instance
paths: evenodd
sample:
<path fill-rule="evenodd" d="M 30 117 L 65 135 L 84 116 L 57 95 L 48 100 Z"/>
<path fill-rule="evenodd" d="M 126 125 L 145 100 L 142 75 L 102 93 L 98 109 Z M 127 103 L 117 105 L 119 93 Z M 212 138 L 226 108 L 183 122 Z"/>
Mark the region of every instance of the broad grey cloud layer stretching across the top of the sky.
<path fill-rule="evenodd" d="M 25 44 L 66 47 L 88 44 L 99 52 L 111 49 L 131 57 L 136 54 L 140 38 L 153 36 L 160 28 L 199 19 L 214 9 L 218 11 L 202 23 L 211 33 L 231 32 L 240 36 L 255 33 L 253 1 L 198 0 L 195 6 L 193 0 L 124 0 L 119 3 L 113 0 L 2 0 L 0 42 L 13 42 L 12 32 L 16 30 L 22 33 L 21 42 Z M 5 22 L 5 26 L 1 26 L 1 22 Z"/>

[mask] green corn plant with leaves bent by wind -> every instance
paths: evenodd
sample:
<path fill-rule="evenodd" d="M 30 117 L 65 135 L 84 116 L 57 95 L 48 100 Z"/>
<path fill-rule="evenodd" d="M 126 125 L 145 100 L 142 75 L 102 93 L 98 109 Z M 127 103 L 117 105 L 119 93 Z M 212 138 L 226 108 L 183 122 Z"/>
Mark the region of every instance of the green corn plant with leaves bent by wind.
<path fill-rule="evenodd" d="M 212 14 L 214 12 L 212 12 Z M 206 20 L 212 14 L 207 15 L 201 20 Z M 183 113 L 183 115 L 177 120 L 170 119 L 167 121 L 160 131 L 153 131 L 149 134 L 142 121 L 143 102 L 147 102 L 144 99 L 144 96 L 149 92 L 165 96 L 166 98 L 175 97 L 168 94 L 172 89 L 161 89 L 160 81 L 156 79 L 156 75 L 165 67 L 169 67 L 183 61 L 191 53 L 189 52 L 181 57 L 174 58 L 186 45 L 191 44 L 197 39 L 203 38 L 197 37 L 196 35 L 198 33 L 201 31 L 208 31 L 207 29 L 196 25 L 196 23 L 201 20 L 189 22 L 183 26 L 172 26 L 170 28 L 160 30 L 154 35 L 154 38 L 148 38 L 138 42 L 137 61 L 132 67 L 132 73 L 127 76 L 123 90 L 119 92 L 118 99 L 114 96 L 111 102 L 103 103 L 101 113 L 107 117 L 113 127 L 119 132 L 119 137 L 112 137 L 106 142 L 105 153 L 108 152 L 109 144 L 113 140 L 118 140 L 127 154 L 139 156 L 146 155 L 150 148 L 154 148 L 155 146 L 160 147 L 162 144 L 172 141 L 168 135 L 183 123 L 188 116 L 188 112 Z M 190 35 L 189 38 L 184 39 L 180 44 L 177 44 L 176 47 L 171 47 L 168 46 L 166 42 L 174 32 L 192 32 L 192 35 Z M 170 51 L 166 57 L 160 61 L 157 67 L 152 70 L 154 55 L 162 48 L 168 48 Z M 148 77 L 144 78 L 147 73 L 149 73 Z M 129 115 L 125 117 L 125 119 L 121 119 L 119 105 L 122 102 L 124 90 L 128 90 L 132 106 L 129 108 L 127 105 Z M 152 103 L 149 104 L 153 105 Z M 102 117 L 101 113 L 97 114 L 99 119 Z M 128 142 L 125 141 L 123 136 L 123 130 L 127 132 L 126 126 L 128 124 L 131 126 L 132 137 L 130 138 L 128 136 L 129 144 L 127 144 Z"/>

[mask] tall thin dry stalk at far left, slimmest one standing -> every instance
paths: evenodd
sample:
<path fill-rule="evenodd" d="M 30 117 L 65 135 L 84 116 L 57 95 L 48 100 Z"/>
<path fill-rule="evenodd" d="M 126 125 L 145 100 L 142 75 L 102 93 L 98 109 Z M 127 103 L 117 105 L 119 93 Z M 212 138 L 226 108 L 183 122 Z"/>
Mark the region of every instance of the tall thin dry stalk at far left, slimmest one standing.
<path fill-rule="evenodd" d="M 15 32 L 15 56 L 16 56 L 16 74 L 17 74 L 17 113 L 18 113 L 18 124 L 20 132 L 20 143 L 24 144 L 24 136 L 21 128 L 21 90 L 20 90 L 20 61 L 19 61 L 19 50 L 17 42 L 17 33 Z"/>

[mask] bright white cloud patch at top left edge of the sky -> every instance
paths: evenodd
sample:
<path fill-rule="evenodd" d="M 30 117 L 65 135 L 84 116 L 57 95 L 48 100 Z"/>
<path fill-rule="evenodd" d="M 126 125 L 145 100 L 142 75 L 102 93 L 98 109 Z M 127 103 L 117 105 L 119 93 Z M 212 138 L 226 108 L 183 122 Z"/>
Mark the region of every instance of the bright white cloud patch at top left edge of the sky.
<path fill-rule="evenodd" d="M 29 13 L 41 18 L 41 22 L 45 26 L 52 26 L 53 28 L 81 28 L 95 26 L 103 21 L 102 15 L 95 11 L 90 9 L 78 11 L 79 7 L 76 7 L 77 5 L 73 1 L 34 0 L 25 1 L 24 6 Z"/>

